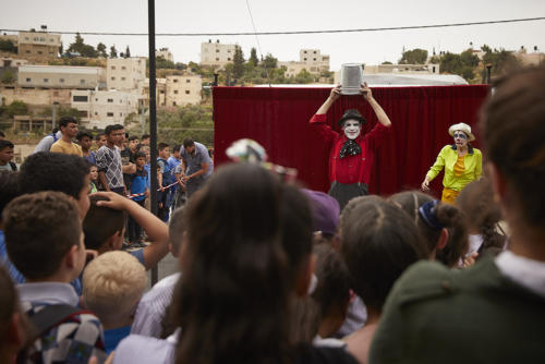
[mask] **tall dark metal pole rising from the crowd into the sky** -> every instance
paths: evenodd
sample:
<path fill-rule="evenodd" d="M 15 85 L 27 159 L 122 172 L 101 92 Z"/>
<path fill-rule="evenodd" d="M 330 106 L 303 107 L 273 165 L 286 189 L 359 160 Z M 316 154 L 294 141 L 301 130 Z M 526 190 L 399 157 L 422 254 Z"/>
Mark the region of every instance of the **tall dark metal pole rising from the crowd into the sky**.
<path fill-rule="evenodd" d="M 147 1 L 148 44 L 149 44 L 149 153 L 152 174 L 152 213 L 157 215 L 157 110 L 155 80 L 155 0 Z M 158 280 L 157 266 L 152 268 L 152 286 Z"/>

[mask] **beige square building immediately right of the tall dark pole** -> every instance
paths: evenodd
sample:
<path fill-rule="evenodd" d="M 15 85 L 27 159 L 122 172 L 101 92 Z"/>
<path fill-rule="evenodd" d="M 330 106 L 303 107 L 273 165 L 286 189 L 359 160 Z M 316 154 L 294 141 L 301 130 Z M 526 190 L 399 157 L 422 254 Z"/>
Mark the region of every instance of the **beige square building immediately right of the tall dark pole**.
<path fill-rule="evenodd" d="M 199 75 L 167 76 L 166 106 L 185 106 L 202 100 L 203 80 Z"/>

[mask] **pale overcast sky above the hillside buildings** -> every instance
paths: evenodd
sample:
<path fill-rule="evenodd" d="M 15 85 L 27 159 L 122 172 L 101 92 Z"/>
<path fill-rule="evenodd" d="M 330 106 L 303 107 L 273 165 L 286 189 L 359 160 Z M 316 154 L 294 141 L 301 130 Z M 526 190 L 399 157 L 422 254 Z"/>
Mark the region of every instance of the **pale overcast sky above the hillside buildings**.
<path fill-rule="evenodd" d="M 545 16 L 543 0 L 247 0 L 257 32 L 374 28 L 497 21 Z M 49 31 L 147 32 L 145 0 L 1 0 L 0 28 L 29 29 L 47 24 Z M 246 0 L 156 0 L 157 33 L 253 32 Z M 545 51 L 545 21 L 476 25 L 451 28 L 388 31 L 355 34 L 259 36 L 263 54 L 281 61 L 299 60 L 299 49 L 318 48 L 330 54 L 331 70 L 347 62 L 377 64 L 396 62 L 403 47 L 429 53 L 460 52 L 470 43 L 476 47 L 519 49 L 537 46 Z M 157 37 L 156 46 L 168 47 L 175 62 L 199 61 L 201 43 L 209 37 Z M 245 58 L 256 47 L 254 36 L 214 37 L 237 43 Z M 63 35 L 65 47 L 74 39 Z M 148 54 L 147 36 L 84 36 L 87 44 L 102 41 L 132 56 Z M 257 48 L 257 47 L 256 47 Z"/>

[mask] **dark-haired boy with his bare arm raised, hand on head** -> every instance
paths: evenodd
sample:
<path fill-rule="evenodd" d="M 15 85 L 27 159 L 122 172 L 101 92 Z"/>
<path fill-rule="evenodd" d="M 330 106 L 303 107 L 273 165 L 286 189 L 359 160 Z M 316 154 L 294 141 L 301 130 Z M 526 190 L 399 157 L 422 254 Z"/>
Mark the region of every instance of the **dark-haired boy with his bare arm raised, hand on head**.
<path fill-rule="evenodd" d="M 83 220 L 85 246 L 98 254 L 119 251 L 123 245 L 126 214 L 146 232 L 150 244 L 131 251 L 146 269 L 150 269 L 168 253 L 168 228 L 137 203 L 116 193 L 98 192 Z"/>

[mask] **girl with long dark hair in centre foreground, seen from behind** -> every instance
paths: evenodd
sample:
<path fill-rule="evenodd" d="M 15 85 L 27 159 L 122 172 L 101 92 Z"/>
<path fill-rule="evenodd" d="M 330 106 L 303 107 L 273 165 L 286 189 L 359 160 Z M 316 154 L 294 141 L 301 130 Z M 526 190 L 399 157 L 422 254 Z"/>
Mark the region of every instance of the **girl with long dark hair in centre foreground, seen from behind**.
<path fill-rule="evenodd" d="M 240 163 L 220 169 L 192 198 L 174 298 L 183 335 L 131 335 L 114 363 L 174 363 L 174 353 L 178 363 L 356 363 L 341 349 L 291 336 L 293 304 L 307 294 L 314 270 L 306 197 Z"/>

